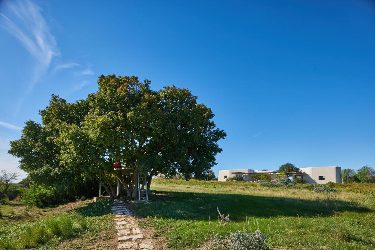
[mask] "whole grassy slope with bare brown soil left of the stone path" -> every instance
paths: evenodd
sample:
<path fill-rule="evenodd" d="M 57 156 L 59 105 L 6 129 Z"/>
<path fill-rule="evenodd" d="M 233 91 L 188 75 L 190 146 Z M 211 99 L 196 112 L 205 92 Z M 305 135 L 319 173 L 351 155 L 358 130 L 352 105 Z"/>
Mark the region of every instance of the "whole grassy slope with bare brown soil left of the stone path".
<path fill-rule="evenodd" d="M 27 209 L 22 201 L 1 205 L 2 249 L 117 249 L 111 202 L 76 201 Z"/>

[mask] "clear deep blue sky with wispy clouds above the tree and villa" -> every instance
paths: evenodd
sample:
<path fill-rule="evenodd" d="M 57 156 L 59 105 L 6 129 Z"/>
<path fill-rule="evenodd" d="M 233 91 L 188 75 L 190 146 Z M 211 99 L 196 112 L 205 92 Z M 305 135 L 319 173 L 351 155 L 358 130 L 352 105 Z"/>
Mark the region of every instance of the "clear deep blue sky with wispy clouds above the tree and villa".
<path fill-rule="evenodd" d="M 8 141 L 52 93 L 112 73 L 212 108 L 216 174 L 375 166 L 373 1 L 0 1 L 0 37 L 0 169 L 19 171 Z"/>

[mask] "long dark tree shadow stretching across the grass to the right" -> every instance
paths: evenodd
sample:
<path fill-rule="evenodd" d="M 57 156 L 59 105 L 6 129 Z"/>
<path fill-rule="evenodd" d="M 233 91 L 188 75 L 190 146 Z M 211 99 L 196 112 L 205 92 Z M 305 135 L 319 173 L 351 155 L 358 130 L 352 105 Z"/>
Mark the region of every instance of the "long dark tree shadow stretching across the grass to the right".
<path fill-rule="evenodd" d="M 231 220 L 243 221 L 245 216 L 331 216 L 335 211 L 368 212 L 368 208 L 343 201 L 311 201 L 239 194 L 187 193 L 153 191 L 150 204 L 139 206 L 139 216 L 160 216 L 171 219 L 208 220 L 217 217 L 216 207 Z"/>

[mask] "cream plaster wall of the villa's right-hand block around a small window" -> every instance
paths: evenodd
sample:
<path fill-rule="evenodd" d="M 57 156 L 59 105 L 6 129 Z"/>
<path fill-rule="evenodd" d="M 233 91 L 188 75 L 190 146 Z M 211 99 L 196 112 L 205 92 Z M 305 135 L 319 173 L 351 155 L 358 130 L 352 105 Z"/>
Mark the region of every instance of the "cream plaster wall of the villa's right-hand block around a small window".
<path fill-rule="evenodd" d="M 305 183 L 319 183 L 326 184 L 329 181 L 334 183 L 342 183 L 341 167 L 311 167 L 300 168 Z M 324 176 L 324 180 L 319 180 L 319 176 Z"/>

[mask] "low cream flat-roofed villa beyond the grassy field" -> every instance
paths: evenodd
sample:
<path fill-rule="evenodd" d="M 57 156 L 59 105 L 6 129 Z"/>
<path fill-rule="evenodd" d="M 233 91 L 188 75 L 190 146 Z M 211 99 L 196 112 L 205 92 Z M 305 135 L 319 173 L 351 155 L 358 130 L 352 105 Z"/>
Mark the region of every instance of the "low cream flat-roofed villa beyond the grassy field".
<path fill-rule="evenodd" d="M 219 171 L 219 181 L 226 181 L 231 177 L 240 177 L 245 181 L 253 181 L 252 174 L 269 174 L 271 179 L 275 180 L 278 171 L 258 171 L 254 169 L 229 169 Z M 329 181 L 334 183 L 342 183 L 341 167 L 310 167 L 300 168 L 300 172 L 285 173 L 288 177 L 301 178 L 304 183 L 320 183 L 325 184 Z"/>

